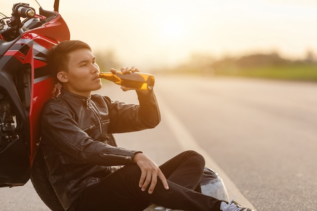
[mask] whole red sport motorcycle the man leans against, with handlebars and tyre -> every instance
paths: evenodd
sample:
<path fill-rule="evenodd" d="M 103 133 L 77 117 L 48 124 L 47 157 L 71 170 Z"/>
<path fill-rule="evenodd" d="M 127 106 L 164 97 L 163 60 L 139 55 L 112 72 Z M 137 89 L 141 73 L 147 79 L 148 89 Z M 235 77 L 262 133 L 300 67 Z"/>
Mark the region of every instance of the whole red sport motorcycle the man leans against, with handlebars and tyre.
<path fill-rule="evenodd" d="M 42 107 L 58 92 L 46 54 L 69 40 L 69 29 L 58 13 L 58 0 L 54 11 L 35 0 L 7 2 L 0 11 L 0 187 L 21 186 L 31 179 L 52 210 L 63 210 L 43 168 L 39 130 Z"/>

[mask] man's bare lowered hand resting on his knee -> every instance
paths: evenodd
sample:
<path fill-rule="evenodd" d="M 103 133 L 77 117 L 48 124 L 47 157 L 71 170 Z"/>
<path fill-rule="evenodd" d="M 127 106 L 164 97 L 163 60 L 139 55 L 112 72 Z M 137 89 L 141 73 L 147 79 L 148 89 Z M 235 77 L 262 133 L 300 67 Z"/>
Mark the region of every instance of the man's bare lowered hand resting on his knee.
<path fill-rule="evenodd" d="M 154 163 L 148 156 L 146 156 L 143 153 L 137 153 L 134 155 L 133 161 L 141 169 L 139 187 L 142 191 L 145 191 L 145 189 L 150 184 L 148 193 L 153 193 L 155 185 L 157 183 L 157 177 L 159 177 L 159 179 L 162 181 L 165 189 L 169 189 L 169 185 L 167 184 L 166 178 L 160 170 L 159 166 L 157 166 L 156 163 Z"/>

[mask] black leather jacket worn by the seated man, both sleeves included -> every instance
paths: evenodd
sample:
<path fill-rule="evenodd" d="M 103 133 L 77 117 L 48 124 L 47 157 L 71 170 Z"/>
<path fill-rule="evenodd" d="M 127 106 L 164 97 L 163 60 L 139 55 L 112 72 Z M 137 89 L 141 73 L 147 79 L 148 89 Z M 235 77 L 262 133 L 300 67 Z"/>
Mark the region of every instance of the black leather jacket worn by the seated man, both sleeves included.
<path fill-rule="evenodd" d="M 161 120 L 153 92 L 138 93 L 139 105 L 101 95 L 82 97 L 65 90 L 43 110 L 43 152 L 49 180 L 65 210 L 81 191 L 133 164 L 136 152 L 117 147 L 111 134 L 154 128 Z"/>

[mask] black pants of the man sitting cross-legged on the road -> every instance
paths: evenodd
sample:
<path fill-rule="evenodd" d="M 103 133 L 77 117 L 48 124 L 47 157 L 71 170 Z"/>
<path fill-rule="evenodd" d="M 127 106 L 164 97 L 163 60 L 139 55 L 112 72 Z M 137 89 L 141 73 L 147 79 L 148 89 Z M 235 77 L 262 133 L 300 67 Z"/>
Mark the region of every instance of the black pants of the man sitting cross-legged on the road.
<path fill-rule="evenodd" d="M 188 211 L 220 210 L 220 200 L 194 191 L 205 167 L 205 159 L 194 151 L 185 151 L 160 166 L 168 180 L 166 190 L 157 179 L 152 194 L 141 191 L 140 168 L 126 165 L 100 183 L 86 188 L 76 202 L 78 211 L 141 211 L 150 202 Z"/>

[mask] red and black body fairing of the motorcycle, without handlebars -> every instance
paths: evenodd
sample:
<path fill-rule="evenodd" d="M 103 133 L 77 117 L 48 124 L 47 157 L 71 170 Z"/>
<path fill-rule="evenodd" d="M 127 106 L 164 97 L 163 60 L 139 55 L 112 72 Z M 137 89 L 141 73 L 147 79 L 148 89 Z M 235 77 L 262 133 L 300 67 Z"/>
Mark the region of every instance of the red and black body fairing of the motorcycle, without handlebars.
<path fill-rule="evenodd" d="M 57 14 L 16 40 L 0 42 L 4 53 L 0 55 L 0 109 L 10 107 L 15 117 L 14 126 L 7 127 L 11 131 L 0 129 L 0 187 L 24 185 L 30 178 L 41 140 L 42 108 L 56 90 L 56 81 L 46 67 L 46 54 L 59 41 L 69 40 L 69 30 Z M 7 134 L 11 139 L 3 138 L 10 137 Z"/>

